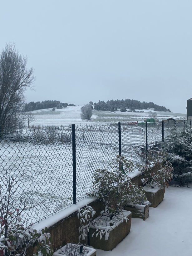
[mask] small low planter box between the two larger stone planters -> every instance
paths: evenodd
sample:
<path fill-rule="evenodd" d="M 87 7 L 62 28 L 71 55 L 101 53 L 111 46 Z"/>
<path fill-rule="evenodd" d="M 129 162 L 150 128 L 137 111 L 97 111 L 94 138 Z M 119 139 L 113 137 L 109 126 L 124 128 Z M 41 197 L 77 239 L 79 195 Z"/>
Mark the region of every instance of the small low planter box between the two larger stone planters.
<path fill-rule="evenodd" d="M 132 213 L 132 218 L 147 219 L 149 217 L 149 205 L 127 204 L 124 210 Z"/>

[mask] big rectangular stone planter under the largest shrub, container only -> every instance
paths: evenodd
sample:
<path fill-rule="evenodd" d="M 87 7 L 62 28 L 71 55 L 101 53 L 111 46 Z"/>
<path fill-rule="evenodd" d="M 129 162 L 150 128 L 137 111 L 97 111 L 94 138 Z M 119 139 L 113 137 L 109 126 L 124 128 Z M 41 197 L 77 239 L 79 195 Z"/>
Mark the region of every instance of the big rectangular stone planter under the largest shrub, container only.
<path fill-rule="evenodd" d="M 110 251 L 115 248 L 117 244 L 119 244 L 130 232 L 132 214 L 130 211 L 123 211 L 123 214 L 129 220 L 127 220 L 127 222 L 126 220 L 121 223 L 119 222 L 116 228 L 111 230 L 108 240 L 105 240 L 104 237 L 100 240 L 99 235 L 96 237 L 95 234 L 92 237 L 92 234 L 96 231 L 96 229 L 89 229 L 89 245 L 93 246 L 96 249 L 101 249 L 104 251 Z M 96 219 L 99 219 L 99 217 L 97 217 Z"/>

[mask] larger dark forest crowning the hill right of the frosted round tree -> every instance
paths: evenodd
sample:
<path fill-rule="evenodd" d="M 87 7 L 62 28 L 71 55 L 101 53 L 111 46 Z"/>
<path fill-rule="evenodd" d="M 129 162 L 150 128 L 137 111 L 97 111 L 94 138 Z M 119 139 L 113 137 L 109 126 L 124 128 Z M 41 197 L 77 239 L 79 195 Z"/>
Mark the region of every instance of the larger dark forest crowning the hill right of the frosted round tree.
<path fill-rule="evenodd" d="M 164 106 L 159 106 L 157 104 L 154 104 L 153 102 L 140 102 L 136 100 L 111 100 L 111 101 L 99 101 L 98 103 L 93 103 L 90 101 L 92 105 L 94 105 L 95 110 L 103 110 L 103 111 L 117 111 L 117 109 L 120 109 L 122 112 L 126 111 L 126 109 L 129 109 L 130 111 L 135 111 L 135 109 L 148 109 L 153 108 L 155 111 L 170 111 L 170 109 L 166 109 Z"/>

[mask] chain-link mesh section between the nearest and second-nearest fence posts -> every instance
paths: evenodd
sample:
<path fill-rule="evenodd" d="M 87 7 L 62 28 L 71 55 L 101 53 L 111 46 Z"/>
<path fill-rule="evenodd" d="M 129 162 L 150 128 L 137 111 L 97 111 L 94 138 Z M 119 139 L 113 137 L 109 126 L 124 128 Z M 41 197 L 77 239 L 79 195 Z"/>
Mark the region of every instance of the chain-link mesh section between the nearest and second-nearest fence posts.
<path fill-rule="evenodd" d="M 118 155 L 118 124 L 76 127 L 77 200 L 92 190 L 91 177 Z"/>

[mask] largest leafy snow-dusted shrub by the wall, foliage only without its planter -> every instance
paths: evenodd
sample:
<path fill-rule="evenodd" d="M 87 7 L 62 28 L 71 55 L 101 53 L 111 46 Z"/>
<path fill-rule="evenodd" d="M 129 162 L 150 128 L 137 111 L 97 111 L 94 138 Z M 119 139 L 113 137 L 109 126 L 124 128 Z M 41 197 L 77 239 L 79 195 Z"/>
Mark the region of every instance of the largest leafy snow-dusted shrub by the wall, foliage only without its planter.
<path fill-rule="evenodd" d="M 105 204 L 105 214 L 110 221 L 122 214 L 123 207 L 128 204 L 142 204 L 146 201 L 145 191 L 131 182 L 127 173 L 132 170 L 133 163 L 124 156 L 117 156 L 108 169 L 97 169 L 92 176 L 94 190 L 90 196 L 96 196 Z"/>

